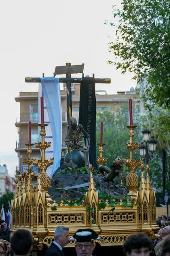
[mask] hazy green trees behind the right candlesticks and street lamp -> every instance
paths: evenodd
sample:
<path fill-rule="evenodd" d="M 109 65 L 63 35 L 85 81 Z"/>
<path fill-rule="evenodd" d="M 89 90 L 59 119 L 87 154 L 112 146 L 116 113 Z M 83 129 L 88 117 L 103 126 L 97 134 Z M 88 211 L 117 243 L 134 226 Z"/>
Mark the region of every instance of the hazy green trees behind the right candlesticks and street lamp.
<path fill-rule="evenodd" d="M 141 142 L 142 130 L 145 128 L 150 129 L 152 135 L 154 135 L 158 140 L 156 152 L 150 155 L 149 163 L 149 166 L 151 167 L 149 175 L 155 192 L 162 192 L 162 149 L 166 149 L 166 168 L 168 170 L 166 173 L 166 190 L 169 191 L 170 194 L 170 150 L 168 148 L 168 142 L 170 142 L 170 125 L 168 121 L 170 119 L 170 114 L 168 111 L 156 106 L 154 106 L 152 110 L 152 112 L 147 111 L 146 115 L 141 116 L 137 113 L 137 109 L 133 108 L 133 123 L 137 125 L 134 130 L 134 142 Z M 103 143 L 106 143 L 103 149 L 103 157 L 108 158 L 106 165 L 109 167 L 115 158 L 119 157 L 124 161 L 126 157 L 129 157 L 129 150 L 127 150 L 126 147 L 126 142 L 130 140 L 128 137 L 128 129 L 126 128 L 129 123 L 128 106 L 122 106 L 116 113 L 111 111 L 97 113 L 97 141 L 99 141 L 101 121 L 103 122 Z M 96 155 L 99 155 L 98 148 L 96 149 Z M 134 152 L 134 159 L 141 159 L 139 150 Z M 126 182 L 128 172 L 129 168 L 123 165 L 124 184 Z M 138 175 L 139 186 L 141 176 L 141 171 L 139 168 L 136 169 L 136 174 Z M 117 182 L 120 182 L 119 177 L 115 179 L 115 184 L 117 184 Z M 106 200 L 108 198 L 103 199 Z"/>

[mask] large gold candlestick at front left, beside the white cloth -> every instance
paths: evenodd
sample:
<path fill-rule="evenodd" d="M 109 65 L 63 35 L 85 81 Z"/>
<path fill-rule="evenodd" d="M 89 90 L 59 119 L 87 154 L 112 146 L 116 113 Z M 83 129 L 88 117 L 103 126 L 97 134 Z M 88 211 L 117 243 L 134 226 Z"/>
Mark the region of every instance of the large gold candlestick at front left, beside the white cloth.
<path fill-rule="evenodd" d="M 40 180 L 41 180 L 41 185 L 42 189 L 47 192 L 47 190 L 50 188 L 50 177 L 46 173 L 47 168 L 53 164 L 53 158 L 50 160 L 45 159 L 45 150 L 51 146 L 51 142 L 45 142 L 45 126 L 48 124 L 46 123 L 40 123 L 38 126 L 41 127 L 40 135 L 42 137 L 42 142 L 37 142 L 35 143 L 35 147 L 39 148 L 42 152 L 42 159 L 41 160 L 36 160 L 33 159 L 34 165 L 37 166 L 38 172 L 40 172 Z"/>

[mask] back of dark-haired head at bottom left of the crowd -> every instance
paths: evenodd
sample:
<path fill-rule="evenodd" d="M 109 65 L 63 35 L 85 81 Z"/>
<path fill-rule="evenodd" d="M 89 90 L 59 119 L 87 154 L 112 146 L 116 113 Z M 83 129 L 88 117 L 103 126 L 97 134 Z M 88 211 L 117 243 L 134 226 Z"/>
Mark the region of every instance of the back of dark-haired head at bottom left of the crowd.
<path fill-rule="evenodd" d="M 10 234 L 10 248 L 14 255 L 28 255 L 33 248 L 33 236 L 28 229 L 18 228 Z"/>

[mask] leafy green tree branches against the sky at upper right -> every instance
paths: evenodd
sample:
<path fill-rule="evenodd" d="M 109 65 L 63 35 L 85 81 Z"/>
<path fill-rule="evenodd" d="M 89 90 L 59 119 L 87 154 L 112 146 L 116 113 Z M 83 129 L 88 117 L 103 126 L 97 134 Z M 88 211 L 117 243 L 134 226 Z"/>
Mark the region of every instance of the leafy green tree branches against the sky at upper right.
<path fill-rule="evenodd" d="M 170 1 L 122 0 L 113 9 L 115 35 L 109 60 L 122 73 L 148 81 L 144 98 L 170 109 Z"/>

